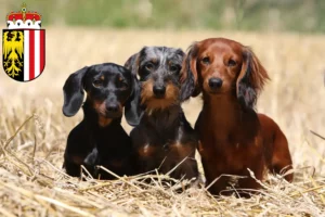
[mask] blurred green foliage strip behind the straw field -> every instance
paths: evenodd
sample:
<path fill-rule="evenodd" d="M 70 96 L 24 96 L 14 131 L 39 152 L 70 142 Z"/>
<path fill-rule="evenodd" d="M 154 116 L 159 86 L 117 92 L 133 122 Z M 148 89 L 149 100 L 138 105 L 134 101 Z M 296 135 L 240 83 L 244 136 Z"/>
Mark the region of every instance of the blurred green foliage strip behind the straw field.
<path fill-rule="evenodd" d="M 1 0 L 0 13 L 22 0 Z M 25 0 L 43 26 L 325 31 L 325 0 Z M 4 22 L 4 21 L 3 21 Z"/>

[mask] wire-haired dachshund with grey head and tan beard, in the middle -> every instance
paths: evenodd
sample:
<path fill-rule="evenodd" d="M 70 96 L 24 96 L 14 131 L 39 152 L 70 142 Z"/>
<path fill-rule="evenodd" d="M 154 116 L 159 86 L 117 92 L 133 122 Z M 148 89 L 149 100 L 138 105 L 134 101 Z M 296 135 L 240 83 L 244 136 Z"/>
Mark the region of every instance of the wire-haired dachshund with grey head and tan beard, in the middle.
<path fill-rule="evenodd" d="M 180 80 L 184 56 L 181 49 L 144 47 L 125 64 L 140 77 L 138 104 L 126 114 L 135 126 L 130 137 L 140 174 L 159 169 L 177 179 L 198 177 L 198 140 L 181 107 L 191 95 L 184 89 L 191 80 Z"/>

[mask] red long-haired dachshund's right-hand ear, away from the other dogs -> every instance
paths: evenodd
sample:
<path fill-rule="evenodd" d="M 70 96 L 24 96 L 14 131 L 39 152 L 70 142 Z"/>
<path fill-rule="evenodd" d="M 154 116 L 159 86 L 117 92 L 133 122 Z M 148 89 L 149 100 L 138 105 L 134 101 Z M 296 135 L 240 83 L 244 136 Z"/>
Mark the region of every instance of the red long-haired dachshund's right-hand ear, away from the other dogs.
<path fill-rule="evenodd" d="M 265 68 L 255 53 L 248 47 L 245 47 L 243 50 L 243 65 L 236 84 L 239 102 L 245 107 L 253 108 L 257 97 L 268 79 L 270 77 Z"/>

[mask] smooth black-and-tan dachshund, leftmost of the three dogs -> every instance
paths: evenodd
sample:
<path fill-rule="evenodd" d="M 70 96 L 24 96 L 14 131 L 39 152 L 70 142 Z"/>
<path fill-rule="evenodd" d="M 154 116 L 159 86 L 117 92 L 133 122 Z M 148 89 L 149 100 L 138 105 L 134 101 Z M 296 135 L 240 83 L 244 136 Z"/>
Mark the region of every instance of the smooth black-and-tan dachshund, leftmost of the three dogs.
<path fill-rule="evenodd" d="M 68 175 L 80 176 L 80 165 L 94 178 L 114 178 L 99 173 L 96 165 L 119 176 L 133 175 L 131 139 L 120 122 L 123 106 L 133 103 L 135 79 L 129 69 L 114 63 L 86 66 L 67 78 L 63 88 L 65 116 L 79 111 L 83 90 L 87 92 L 84 117 L 67 139 L 63 167 Z"/>

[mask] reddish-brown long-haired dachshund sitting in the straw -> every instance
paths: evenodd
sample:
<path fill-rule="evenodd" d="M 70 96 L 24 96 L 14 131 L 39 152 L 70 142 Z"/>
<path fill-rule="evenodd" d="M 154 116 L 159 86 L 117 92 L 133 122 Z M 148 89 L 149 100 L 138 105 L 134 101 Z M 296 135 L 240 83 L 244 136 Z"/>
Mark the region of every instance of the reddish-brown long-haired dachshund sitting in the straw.
<path fill-rule="evenodd" d="M 259 180 L 266 168 L 276 174 L 292 168 L 283 131 L 273 119 L 255 112 L 258 94 L 270 78 L 248 47 L 224 38 L 196 42 L 188 49 L 182 76 L 193 80 L 187 87 L 192 97 L 203 92 L 204 105 L 195 129 L 206 184 L 212 194 L 236 187 L 243 190 L 239 195 L 249 196 L 244 190 L 256 190 L 260 184 L 247 168 Z M 229 176 L 222 175 L 247 178 L 231 184 Z M 285 176 L 287 181 L 292 178 L 292 174 Z"/>

